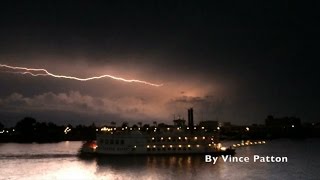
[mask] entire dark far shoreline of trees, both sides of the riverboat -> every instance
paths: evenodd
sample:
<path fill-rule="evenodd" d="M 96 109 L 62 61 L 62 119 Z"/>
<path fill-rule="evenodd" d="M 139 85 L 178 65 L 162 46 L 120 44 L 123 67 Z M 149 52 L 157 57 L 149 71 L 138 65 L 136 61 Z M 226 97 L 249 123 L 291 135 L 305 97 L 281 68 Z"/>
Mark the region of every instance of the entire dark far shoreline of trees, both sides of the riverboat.
<path fill-rule="evenodd" d="M 110 125 L 104 125 L 103 128 L 117 127 L 117 131 L 139 130 L 145 133 L 154 133 L 158 131 L 166 131 L 168 128 L 174 127 L 164 123 L 153 122 L 152 125 L 142 124 L 138 122 L 129 126 L 127 122 L 123 122 L 118 127 L 116 122 L 111 122 Z M 219 129 L 220 139 L 275 139 L 275 138 L 308 138 L 320 137 L 320 123 L 301 123 L 297 117 L 281 117 L 268 116 L 265 119 L 265 124 L 252 125 L 232 125 L 231 123 L 223 123 L 218 126 L 218 122 L 214 121 L 215 125 L 206 126 L 200 122 L 200 126 L 205 126 L 206 131 Z M 0 122 L 0 142 L 59 142 L 59 141 L 87 141 L 95 140 L 96 133 L 103 131 L 103 128 L 96 127 L 95 124 L 90 126 L 72 125 L 59 126 L 52 122 L 37 122 L 34 118 L 25 117 L 17 122 L 15 127 L 5 128 Z"/>

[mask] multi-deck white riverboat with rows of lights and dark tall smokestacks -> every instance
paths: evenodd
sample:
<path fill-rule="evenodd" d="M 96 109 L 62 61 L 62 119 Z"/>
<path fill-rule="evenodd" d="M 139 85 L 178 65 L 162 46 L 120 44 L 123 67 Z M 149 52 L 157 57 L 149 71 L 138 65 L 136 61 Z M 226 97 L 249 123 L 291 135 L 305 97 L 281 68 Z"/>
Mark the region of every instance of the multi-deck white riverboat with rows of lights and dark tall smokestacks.
<path fill-rule="evenodd" d="M 174 125 L 147 128 L 103 127 L 96 141 L 87 142 L 81 153 L 98 155 L 212 154 L 233 155 L 233 148 L 219 142 L 219 130 L 193 125 L 193 109 L 185 120 L 175 119 Z"/>

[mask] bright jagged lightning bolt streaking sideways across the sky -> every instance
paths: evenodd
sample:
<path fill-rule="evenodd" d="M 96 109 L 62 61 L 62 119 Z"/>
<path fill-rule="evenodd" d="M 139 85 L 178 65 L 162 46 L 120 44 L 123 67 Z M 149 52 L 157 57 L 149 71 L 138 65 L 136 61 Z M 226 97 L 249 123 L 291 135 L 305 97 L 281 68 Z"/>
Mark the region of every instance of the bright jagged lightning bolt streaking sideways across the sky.
<path fill-rule="evenodd" d="M 71 80 L 77 80 L 77 81 L 90 81 L 90 80 L 95 80 L 95 79 L 111 78 L 114 80 L 124 81 L 124 82 L 128 82 L 128 83 L 141 83 L 141 84 L 155 86 L 155 87 L 163 86 L 163 84 L 155 84 L 155 83 L 151 83 L 151 82 L 147 82 L 147 81 L 143 81 L 143 80 L 138 80 L 138 79 L 124 79 L 124 78 L 112 76 L 109 74 L 104 74 L 101 76 L 93 76 L 93 77 L 88 77 L 88 78 L 79 78 L 79 77 L 74 77 L 74 76 L 53 74 L 53 73 L 50 73 L 46 69 L 9 66 L 6 64 L 0 64 L 0 67 L 11 69 L 11 70 L 18 70 L 18 71 L 13 71 L 13 72 L 9 71 L 9 73 L 18 73 L 18 74 L 24 74 L 24 75 L 29 74 L 31 76 L 51 76 L 51 77 L 55 77 L 55 78 L 71 79 Z M 8 72 L 8 71 L 6 71 L 6 72 Z"/>

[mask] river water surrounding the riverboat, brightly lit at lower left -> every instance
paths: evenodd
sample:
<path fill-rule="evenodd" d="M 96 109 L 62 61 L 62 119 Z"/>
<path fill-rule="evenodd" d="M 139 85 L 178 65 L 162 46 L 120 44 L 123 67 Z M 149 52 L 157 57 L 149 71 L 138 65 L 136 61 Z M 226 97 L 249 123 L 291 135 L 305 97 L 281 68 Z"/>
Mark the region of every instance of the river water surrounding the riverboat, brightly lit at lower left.
<path fill-rule="evenodd" d="M 233 144 L 237 142 L 226 142 Z M 236 149 L 249 162 L 206 163 L 197 156 L 79 158 L 82 142 L 0 144 L 0 179 L 319 179 L 320 139 L 267 141 Z M 253 162 L 253 156 L 288 162 Z"/>

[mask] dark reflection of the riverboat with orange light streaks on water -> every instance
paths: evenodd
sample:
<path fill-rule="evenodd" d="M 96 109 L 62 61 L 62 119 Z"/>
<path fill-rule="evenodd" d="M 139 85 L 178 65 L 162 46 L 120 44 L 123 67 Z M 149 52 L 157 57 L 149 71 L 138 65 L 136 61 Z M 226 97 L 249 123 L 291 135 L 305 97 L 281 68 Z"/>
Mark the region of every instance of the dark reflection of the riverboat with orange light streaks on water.
<path fill-rule="evenodd" d="M 136 156 L 99 157 L 96 159 L 100 177 L 172 179 L 196 175 L 194 167 L 203 163 L 203 156 Z"/>

